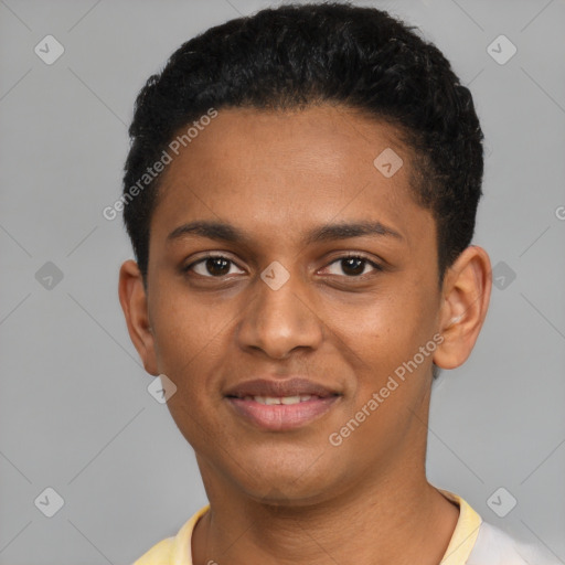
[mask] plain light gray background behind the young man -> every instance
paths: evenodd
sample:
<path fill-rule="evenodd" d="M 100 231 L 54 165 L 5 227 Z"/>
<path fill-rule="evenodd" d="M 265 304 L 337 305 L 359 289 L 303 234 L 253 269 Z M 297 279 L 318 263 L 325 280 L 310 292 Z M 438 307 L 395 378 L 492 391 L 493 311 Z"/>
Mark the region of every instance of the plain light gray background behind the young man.
<path fill-rule="evenodd" d="M 0 0 L 0 564 L 127 564 L 206 502 L 192 448 L 147 392 L 117 298 L 129 242 L 102 211 L 149 75 L 271 3 Z M 565 3 L 359 3 L 446 53 L 487 138 L 476 243 L 501 288 L 471 359 L 435 387 L 430 481 L 565 563 Z M 47 34 L 65 49 L 52 65 L 34 53 Z M 518 47 L 503 65 L 487 51 L 500 34 Z M 47 487 L 64 499 L 53 518 L 34 504 Z M 487 502 L 500 487 L 518 500 L 505 518 Z"/>

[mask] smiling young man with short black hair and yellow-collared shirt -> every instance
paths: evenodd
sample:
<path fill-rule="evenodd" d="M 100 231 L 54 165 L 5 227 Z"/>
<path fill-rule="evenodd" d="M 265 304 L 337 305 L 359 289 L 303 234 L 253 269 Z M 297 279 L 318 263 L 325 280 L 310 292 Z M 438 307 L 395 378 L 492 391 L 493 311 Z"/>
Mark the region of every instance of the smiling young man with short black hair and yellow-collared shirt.
<path fill-rule="evenodd" d="M 425 475 L 491 290 L 441 53 L 376 9 L 263 10 L 182 45 L 130 136 L 120 301 L 210 500 L 136 565 L 550 563 Z"/>

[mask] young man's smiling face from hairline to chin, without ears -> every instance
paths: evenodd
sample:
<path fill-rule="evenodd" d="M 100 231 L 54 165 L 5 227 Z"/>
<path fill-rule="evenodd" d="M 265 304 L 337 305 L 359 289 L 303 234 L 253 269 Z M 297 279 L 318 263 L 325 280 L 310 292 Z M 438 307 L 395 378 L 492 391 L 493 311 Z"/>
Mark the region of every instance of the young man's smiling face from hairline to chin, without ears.
<path fill-rule="evenodd" d="M 409 168 L 393 127 L 330 106 L 220 110 L 168 166 L 136 344 L 177 386 L 205 484 L 300 504 L 424 466 L 445 297 Z M 281 391 L 299 404 L 248 384 L 290 379 L 309 382 Z"/>

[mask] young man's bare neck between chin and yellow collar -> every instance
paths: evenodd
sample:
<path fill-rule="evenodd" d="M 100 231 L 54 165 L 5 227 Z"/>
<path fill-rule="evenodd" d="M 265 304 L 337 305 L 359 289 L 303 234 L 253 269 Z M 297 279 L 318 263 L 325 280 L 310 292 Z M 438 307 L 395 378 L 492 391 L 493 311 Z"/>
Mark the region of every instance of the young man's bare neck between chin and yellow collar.
<path fill-rule="evenodd" d="M 437 565 L 459 511 L 425 479 L 367 477 L 309 505 L 265 504 L 206 488 L 211 511 L 193 534 L 193 564 Z"/>

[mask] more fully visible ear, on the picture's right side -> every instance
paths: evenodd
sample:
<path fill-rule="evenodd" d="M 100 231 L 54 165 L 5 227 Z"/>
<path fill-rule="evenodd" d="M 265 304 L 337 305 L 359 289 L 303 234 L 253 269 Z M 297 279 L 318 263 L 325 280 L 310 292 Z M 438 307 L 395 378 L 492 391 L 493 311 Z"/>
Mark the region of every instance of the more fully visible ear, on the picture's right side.
<path fill-rule="evenodd" d="M 440 332 L 444 341 L 434 362 L 455 369 L 467 360 L 487 317 L 492 269 L 484 249 L 467 247 L 447 270 L 441 290 Z"/>

